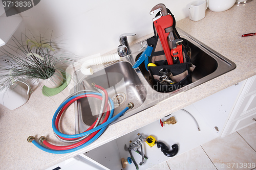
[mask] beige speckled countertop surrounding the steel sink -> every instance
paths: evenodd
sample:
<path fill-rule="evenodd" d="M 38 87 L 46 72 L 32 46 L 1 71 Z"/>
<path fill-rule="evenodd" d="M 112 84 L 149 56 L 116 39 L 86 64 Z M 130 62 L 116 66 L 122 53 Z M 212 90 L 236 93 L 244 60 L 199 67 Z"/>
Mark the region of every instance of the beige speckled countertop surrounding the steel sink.
<path fill-rule="evenodd" d="M 33 89 L 29 101 L 18 109 L 10 111 L 1 105 L 1 169 L 48 168 L 256 75 L 256 36 L 241 37 L 242 34 L 256 31 L 255 9 L 256 1 L 252 1 L 243 6 L 233 6 L 224 12 L 207 9 L 205 18 L 197 22 L 188 18 L 178 21 L 176 27 L 236 63 L 237 68 L 111 125 L 95 142 L 79 151 L 62 155 L 50 154 L 27 142 L 30 135 L 36 139 L 44 135 L 50 142 L 62 144 L 53 134 L 51 121 L 57 107 L 69 95 L 68 89 L 48 98 L 42 95 L 38 87 Z M 178 105 L 181 103 L 182 105 Z M 75 133 L 74 122 L 74 106 L 70 106 L 62 118 L 61 129 L 65 129 L 66 133 Z"/>

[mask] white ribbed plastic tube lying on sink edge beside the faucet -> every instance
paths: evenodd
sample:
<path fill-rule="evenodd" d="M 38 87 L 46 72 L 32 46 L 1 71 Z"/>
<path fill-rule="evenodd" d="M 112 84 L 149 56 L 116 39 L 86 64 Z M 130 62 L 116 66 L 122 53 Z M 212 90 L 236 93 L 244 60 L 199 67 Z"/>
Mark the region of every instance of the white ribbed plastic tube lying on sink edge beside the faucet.
<path fill-rule="evenodd" d="M 118 60 L 120 60 L 120 57 L 118 54 L 91 58 L 87 61 L 84 61 L 84 63 L 81 65 L 81 72 L 83 75 L 93 75 L 93 69 L 90 66 L 110 63 Z"/>

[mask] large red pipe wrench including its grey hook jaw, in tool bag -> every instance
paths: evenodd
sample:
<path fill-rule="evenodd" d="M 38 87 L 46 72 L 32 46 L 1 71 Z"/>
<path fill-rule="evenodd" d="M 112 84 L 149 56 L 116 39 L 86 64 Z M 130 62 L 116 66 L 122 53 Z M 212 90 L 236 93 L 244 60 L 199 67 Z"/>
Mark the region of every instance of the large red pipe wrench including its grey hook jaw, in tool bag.
<path fill-rule="evenodd" d="M 169 65 L 172 65 L 172 64 L 174 64 L 174 62 L 173 62 L 172 56 L 170 55 L 170 46 L 169 46 L 167 37 L 168 36 L 169 36 L 169 38 L 172 37 L 170 39 L 174 40 L 174 36 L 172 34 L 173 17 L 171 15 L 168 15 L 167 9 L 164 4 L 156 5 L 151 10 L 150 14 L 152 15 L 159 11 L 162 13 L 162 16 L 161 15 L 156 16 L 155 18 L 153 18 L 153 22 L 154 22 L 155 28 L 157 30 L 157 33 L 159 35 L 159 39 L 161 41 L 167 62 Z"/>

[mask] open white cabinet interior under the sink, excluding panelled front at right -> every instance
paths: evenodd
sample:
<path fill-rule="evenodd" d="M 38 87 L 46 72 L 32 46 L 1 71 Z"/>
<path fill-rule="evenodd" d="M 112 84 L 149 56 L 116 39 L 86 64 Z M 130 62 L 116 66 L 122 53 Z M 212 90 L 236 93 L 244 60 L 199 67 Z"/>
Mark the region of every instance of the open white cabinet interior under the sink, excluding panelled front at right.
<path fill-rule="evenodd" d="M 179 145 L 178 155 L 194 149 L 203 143 L 221 136 L 244 84 L 245 81 L 228 87 L 184 108 L 184 110 L 188 111 L 197 120 L 201 129 L 200 131 L 193 117 L 183 110 L 179 110 L 162 118 L 164 121 L 174 116 L 177 120 L 175 125 L 165 124 L 164 127 L 161 127 L 159 120 L 157 120 L 156 122 L 84 153 L 84 155 L 109 169 L 122 169 L 121 158 L 127 159 L 127 157 L 130 156 L 129 152 L 124 150 L 124 145 L 129 146 L 129 141 L 134 140 L 137 134 L 142 134 L 144 137 L 152 135 L 157 141 L 165 143 L 170 150 L 172 150 L 171 146 L 177 143 Z M 157 148 L 157 145 L 152 148 L 145 142 L 143 142 L 142 145 L 148 159 L 145 160 L 144 165 L 139 166 L 139 169 L 154 167 L 170 158 L 166 157 L 161 150 Z M 132 151 L 132 153 L 139 165 L 139 162 L 142 161 L 142 157 L 134 151 Z M 125 169 L 130 170 L 134 168 L 135 165 L 132 163 L 126 165 Z"/>

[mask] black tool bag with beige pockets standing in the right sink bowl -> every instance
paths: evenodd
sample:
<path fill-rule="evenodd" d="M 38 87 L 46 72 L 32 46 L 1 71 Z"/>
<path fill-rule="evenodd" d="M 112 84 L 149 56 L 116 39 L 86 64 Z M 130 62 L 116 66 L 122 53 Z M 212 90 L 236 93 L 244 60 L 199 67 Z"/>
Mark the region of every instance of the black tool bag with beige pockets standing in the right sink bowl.
<path fill-rule="evenodd" d="M 175 28 L 176 21 L 174 15 L 169 11 L 169 9 L 167 9 L 167 12 L 173 17 L 173 33 L 175 39 L 181 39 Z M 159 15 L 159 13 L 157 15 Z M 153 51 L 148 62 L 156 65 L 147 67 L 151 75 L 150 81 L 153 82 L 153 88 L 159 92 L 171 92 L 190 84 L 192 82 L 191 71 L 194 70 L 195 66 L 190 63 L 191 50 L 187 41 L 183 39 L 183 41 L 179 43 L 182 44 L 184 62 L 180 63 L 179 58 L 173 58 L 174 64 L 168 65 L 159 36 L 155 30 L 154 23 L 153 29 L 155 35 L 146 40 L 147 45 L 153 47 Z"/>

